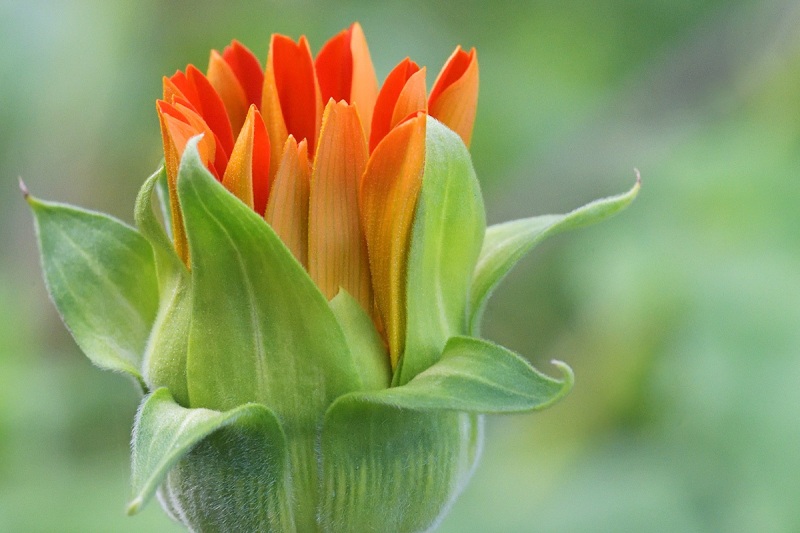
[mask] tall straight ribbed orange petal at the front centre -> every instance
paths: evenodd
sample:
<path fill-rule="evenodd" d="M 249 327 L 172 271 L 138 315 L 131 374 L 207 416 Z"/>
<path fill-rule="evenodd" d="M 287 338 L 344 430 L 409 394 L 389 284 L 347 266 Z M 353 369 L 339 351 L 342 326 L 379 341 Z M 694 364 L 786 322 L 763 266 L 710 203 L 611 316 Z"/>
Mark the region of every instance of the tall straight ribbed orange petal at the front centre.
<path fill-rule="evenodd" d="M 369 261 L 358 211 L 358 183 L 367 155 L 356 108 L 329 101 L 311 174 L 308 273 L 328 299 L 341 287 L 371 311 Z"/>

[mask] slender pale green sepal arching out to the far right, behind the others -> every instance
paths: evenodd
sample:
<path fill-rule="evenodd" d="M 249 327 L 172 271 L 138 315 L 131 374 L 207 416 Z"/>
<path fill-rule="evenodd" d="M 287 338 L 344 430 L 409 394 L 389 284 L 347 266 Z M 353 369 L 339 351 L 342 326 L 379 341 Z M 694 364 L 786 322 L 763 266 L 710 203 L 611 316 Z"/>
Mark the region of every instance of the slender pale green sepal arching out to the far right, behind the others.
<path fill-rule="evenodd" d="M 625 209 L 639 193 L 636 183 L 626 193 L 602 198 L 563 215 L 542 215 L 495 224 L 486 230 L 475 268 L 470 305 L 470 334 L 478 335 L 486 302 L 511 268 L 546 237 L 600 222 Z"/>

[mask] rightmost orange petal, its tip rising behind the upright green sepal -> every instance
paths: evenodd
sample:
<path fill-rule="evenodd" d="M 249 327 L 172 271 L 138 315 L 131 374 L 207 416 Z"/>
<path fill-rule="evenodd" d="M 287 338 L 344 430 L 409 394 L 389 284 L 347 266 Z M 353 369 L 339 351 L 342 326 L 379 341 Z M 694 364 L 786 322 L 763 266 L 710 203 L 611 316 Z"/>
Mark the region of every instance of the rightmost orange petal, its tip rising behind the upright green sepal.
<path fill-rule="evenodd" d="M 457 47 L 433 84 L 428 107 L 432 117 L 458 133 L 469 146 L 478 106 L 478 55 Z"/>

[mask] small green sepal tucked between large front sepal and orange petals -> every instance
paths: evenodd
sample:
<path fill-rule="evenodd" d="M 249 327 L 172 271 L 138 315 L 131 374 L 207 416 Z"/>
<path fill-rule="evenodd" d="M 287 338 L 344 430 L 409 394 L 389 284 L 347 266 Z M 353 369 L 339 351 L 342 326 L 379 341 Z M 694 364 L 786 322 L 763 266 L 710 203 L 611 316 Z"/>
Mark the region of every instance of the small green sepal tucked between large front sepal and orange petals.
<path fill-rule="evenodd" d="M 389 352 L 370 316 L 344 289 L 339 290 L 330 306 L 350 346 L 363 390 L 388 388 L 392 381 Z"/>

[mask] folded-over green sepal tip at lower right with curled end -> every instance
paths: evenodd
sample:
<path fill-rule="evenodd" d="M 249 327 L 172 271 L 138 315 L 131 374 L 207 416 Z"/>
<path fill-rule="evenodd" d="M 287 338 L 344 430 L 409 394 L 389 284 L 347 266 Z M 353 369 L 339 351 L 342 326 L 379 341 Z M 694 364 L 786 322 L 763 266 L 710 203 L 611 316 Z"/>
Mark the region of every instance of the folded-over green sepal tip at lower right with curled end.
<path fill-rule="evenodd" d="M 572 388 L 572 370 L 553 361 L 562 379 L 548 377 L 514 352 L 473 337 L 453 337 L 442 358 L 402 387 L 356 392 L 336 404 L 377 403 L 400 409 L 513 413 L 544 409 Z"/>

